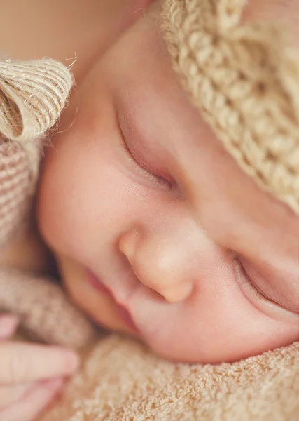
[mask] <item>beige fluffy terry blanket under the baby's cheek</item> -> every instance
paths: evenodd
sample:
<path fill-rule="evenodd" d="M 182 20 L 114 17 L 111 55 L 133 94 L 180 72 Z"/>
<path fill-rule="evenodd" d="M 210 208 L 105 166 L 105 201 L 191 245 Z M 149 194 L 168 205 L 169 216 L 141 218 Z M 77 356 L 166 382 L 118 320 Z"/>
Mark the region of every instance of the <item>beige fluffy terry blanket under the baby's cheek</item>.
<path fill-rule="evenodd" d="M 298 421 L 299 342 L 237 363 L 162 361 L 109 335 L 41 421 Z"/>

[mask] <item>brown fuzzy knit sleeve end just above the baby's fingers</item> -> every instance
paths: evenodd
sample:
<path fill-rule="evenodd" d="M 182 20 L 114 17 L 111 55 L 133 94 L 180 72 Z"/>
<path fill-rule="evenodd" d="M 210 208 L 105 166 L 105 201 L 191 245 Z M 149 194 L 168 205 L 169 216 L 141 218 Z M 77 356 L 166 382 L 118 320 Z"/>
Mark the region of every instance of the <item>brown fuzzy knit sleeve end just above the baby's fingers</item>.
<path fill-rule="evenodd" d="M 92 325 L 50 279 L 0 269 L 0 309 L 20 316 L 34 340 L 79 348 L 94 335 Z"/>

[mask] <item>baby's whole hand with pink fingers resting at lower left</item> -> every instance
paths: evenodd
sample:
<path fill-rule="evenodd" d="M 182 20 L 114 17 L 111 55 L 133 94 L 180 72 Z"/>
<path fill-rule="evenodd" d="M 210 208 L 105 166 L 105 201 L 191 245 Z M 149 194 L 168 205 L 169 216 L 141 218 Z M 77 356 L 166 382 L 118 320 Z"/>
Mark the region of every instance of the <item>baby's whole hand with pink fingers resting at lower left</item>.
<path fill-rule="evenodd" d="M 0 421 L 35 420 L 78 366 L 69 350 L 8 341 L 17 325 L 0 315 Z"/>

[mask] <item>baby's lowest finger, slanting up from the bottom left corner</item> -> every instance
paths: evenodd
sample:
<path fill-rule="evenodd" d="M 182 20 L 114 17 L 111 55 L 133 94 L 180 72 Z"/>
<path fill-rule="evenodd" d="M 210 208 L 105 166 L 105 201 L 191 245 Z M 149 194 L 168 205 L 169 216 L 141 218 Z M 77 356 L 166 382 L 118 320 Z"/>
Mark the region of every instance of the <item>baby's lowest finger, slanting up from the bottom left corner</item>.
<path fill-rule="evenodd" d="M 36 385 L 24 399 L 0 411 L 0 421 L 33 421 L 62 389 L 61 379 L 48 380 Z"/>

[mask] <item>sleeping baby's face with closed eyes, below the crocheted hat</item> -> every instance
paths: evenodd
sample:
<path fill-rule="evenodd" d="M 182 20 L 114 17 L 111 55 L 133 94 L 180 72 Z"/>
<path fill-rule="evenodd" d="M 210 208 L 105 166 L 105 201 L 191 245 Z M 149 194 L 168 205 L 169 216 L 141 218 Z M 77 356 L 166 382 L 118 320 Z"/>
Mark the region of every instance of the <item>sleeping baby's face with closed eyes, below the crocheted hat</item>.
<path fill-rule="evenodd" d="M 99 324 L 167 359 L 234 361 L 298 340 L 299 218 L 190 105 L 158 12 L 73 93 L 46 155 L 39 223 Z"/>

